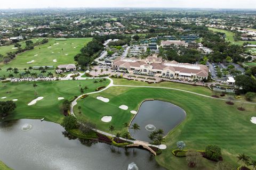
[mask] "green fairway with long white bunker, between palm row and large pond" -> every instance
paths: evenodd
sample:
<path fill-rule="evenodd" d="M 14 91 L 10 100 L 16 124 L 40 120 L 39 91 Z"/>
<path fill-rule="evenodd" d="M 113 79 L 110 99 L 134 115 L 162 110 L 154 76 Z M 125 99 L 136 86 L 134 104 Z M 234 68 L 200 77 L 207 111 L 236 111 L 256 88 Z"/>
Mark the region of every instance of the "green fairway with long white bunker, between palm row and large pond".
<path fill-rule="evenodd" d="M 89 87 L 87 91 L 95 91 L 100 84 L 93 83 L 93 80 L 63 80 L 63 81 L 46 81 L 36 82 L 37 96 L 34 95 L 34 82 L 19 82 L 19 83 L 3 83 L 0 85 L 0 101 L 13 100 L 17 104 L 15 112 L 6 117 L 6 120 L 16 120 L 21 118 L 45 118 L 46 120 L 61 123 L 63 114 L 61 113 L 61 104 L 63 100 L 58 100 L 58 97 L 64 97 L 71 100 L 74 96 L 81 95 L 79 84 L 81 87 Z M 109 80 L 106 81 L 109 83 Z M 35 105 L 28 106 L 30 101 L 37 97 L 44 97 Z M 6 97 L 5 99 L 1 99 Z"/>

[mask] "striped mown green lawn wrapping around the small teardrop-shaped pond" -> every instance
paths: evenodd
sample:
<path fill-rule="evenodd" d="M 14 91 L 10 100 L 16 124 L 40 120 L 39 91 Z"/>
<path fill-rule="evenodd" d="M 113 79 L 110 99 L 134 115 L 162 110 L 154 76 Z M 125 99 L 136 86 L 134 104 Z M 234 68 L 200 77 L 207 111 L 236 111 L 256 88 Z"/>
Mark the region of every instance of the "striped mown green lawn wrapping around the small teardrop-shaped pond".
<path fill-rule="evenodd" d="M 103 103 L 97 100 L 97 96 L 103 96 L 110 99 L 109 103 Z M 246 111 L 241 112 L 237 107 L 227 105 L 225 101 L 206 98 L 188 92 L 151 89 L 151 88 L 132 88 L 132 87 L 111 87 L 100 94 L 90 95 L 84 100 L 78 100 L 78 105 L 82 107 L 82 115 L 78 115 L 77 106 L 75 114 L 78 118 L 86 117 L 88 120 L 97 124 L 97 128 L 108 131 L 109 125 L 114 125 L 117 131 L 126 131 L 123 128 L 124 122 L 130 122 L 132 114 L 130 111 L 137 110 L 139 104 L 145 99 L 158 99 L 169 101 L 185 109 L 187 113 L 186 120 L 178 128 L 171 131 L 166 137 L 167 149 L 163 154 L 156 157 L 159 164 L 168 169 L 187 169 L 185 159 L 172 156 L 172 149 L 175 149 L 175 143 L 179 140 L 185 141 L 188 149 L 205 149 L 206 145 L 214 144 L 220 146 L 223 150 L 223 157 L 234 167 L 237 166 L 236 154 L 245 152 L 254 159 L 256 154 L 255 124 L 250 122 L 250 118 L 255 116 L 255 105 L 244 104 Z M 123 111 L 119 109 L 120 105 L 127 105 L 129 109 Z M 109 123 L 101 122 L 102 116 L 113 116 Z M 174 164 L 172 164 L 174 160 Z M 204 160 L 205 169 L 214 164 Z M 204 168 L 201 168 L 204 169 Z"/>

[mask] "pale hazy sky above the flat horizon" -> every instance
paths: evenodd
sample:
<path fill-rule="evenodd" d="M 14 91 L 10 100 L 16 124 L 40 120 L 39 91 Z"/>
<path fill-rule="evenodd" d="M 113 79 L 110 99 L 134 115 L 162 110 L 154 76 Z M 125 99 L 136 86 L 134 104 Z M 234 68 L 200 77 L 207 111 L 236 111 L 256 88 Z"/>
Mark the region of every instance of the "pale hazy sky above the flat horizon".
<path fill-rule="evenodd" d="M 0 8 L 43 7 L 256 8 L 256 0 L 0 0 Z"/>

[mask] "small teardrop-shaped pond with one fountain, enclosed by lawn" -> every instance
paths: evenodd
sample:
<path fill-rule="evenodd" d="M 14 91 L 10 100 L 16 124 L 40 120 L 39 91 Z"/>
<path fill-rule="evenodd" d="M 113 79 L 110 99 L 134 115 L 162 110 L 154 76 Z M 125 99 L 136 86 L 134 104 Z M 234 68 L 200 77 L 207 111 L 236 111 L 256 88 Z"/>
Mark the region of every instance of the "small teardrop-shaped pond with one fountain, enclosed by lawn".
<path fill-rule="evenodd" d="M 129 132 L 134 139 L 150 142 L 148 135 L 152 131 L 162 129 L 165 136 L 185 118 L 186 112 L 179 106 L 159 100 L 144 101 L 131 123 L 137 123 L 140 130 Z"/>

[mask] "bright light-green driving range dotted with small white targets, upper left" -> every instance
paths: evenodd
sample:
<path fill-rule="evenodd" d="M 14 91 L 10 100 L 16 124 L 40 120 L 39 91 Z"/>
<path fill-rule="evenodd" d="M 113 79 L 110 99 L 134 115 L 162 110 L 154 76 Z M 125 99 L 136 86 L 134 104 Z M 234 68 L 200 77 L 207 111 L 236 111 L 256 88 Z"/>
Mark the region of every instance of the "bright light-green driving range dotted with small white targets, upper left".
<path fill-rule="evenodd" d="M 13 61 L 8 64 L 2 63 L 0 66 L 2 70 L 6 70 L 8 67 L 24 69 L 29 66 L 57 66 L 75 63 L 74 56 L 91 40 L 91 38 L 69 38 L 66 41 L 58 41 L 55 38 L 49 38 L 49 43 L 35 46 L 33 50 L 21 53 Z"/>

